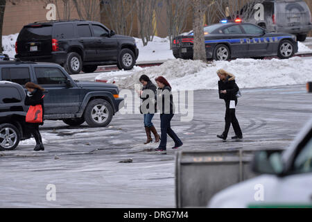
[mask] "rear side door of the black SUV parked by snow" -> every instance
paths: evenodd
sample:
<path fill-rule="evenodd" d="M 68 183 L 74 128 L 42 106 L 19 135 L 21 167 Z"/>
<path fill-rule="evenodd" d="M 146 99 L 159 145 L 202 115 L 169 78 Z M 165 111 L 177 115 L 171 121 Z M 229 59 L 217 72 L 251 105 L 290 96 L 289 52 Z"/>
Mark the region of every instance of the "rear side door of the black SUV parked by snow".
<path fill-rule="evenodd" d="M 92 37 L 89 24 L 78 24 L 78 42 L 83 44 L 85 51 L 85 61 L 96 60 L 96 40 Z"/>

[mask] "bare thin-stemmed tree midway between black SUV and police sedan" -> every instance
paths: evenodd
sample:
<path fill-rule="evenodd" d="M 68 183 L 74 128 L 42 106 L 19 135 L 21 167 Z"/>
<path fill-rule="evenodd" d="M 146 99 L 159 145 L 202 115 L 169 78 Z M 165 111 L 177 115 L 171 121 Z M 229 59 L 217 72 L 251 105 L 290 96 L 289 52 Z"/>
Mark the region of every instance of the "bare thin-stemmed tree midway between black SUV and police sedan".
<path fill-rule="evenodd" d="M 139 34 L 143 45 L 146 46 L 149 41 L 153 41 L 155 35 L 155 15 L 159 12 L 157 8 L 159 0 L 137 0 L 137 18 L 139 21 Z"/>

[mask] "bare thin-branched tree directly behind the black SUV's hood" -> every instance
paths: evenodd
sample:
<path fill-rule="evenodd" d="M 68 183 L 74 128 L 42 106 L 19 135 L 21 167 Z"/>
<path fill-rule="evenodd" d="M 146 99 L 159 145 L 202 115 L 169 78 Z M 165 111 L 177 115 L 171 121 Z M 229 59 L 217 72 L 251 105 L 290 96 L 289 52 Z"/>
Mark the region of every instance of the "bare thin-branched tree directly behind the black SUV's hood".
<path fill-rule="evenodd" d="M 135 0 L 107 0 L 102 2 L 103 12 L 110 28 L 121 35 L 131 35 L 135 17 Z"/>

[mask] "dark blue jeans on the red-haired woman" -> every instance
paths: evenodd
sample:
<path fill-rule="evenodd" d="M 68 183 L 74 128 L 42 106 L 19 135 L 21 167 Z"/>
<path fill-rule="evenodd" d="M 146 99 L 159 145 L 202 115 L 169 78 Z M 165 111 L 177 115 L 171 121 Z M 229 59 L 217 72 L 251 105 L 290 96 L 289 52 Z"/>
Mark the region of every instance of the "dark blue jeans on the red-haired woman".
<path fill-rule="evenodd" d="M 174 114 L 160 114 L 160 128 L 162 130 L 161 140 L 158 148 L 166 149 L 167 145 L 167 134 L 175 142 L 175 146 L 180 146 L 182 141 L 175 132 L 171 129 L 170 121 L 173 118 Z"/>

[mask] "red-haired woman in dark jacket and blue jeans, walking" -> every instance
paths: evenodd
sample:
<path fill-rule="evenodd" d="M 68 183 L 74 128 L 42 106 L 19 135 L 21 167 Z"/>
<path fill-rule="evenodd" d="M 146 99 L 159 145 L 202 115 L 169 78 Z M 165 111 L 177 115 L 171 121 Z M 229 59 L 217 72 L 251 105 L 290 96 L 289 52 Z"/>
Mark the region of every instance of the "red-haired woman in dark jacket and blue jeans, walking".
<path fill-rule="evenodd" d="M 162 130 L 160 144 L 156 151 L 166 151 L 167 134 L 175 142 L 175 146 L 172 148 L 177 149 L 182 146 L 183 143 L 171 128 L 171 119 L 173 118 L 175 112 L 171 85 L 163 76 L 159 76 L 155 80 L 159 87 L 157 94 L 155 94 L 155 98 L 157 99 L 157 107 L 160 112 L 160 128 Z"/>

